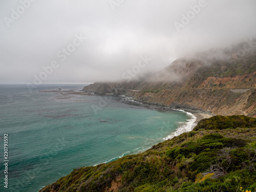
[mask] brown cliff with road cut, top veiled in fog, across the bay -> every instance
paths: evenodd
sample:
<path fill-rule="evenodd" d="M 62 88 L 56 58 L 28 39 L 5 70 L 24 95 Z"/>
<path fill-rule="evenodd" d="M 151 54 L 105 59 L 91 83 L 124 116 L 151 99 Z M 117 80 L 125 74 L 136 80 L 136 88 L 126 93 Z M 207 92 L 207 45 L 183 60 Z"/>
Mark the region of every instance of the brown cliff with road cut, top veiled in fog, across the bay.
<path fill-rule="evenodd" d="M 144 102 L 215 115 L 256 117 L 256 51 L 238 57 L 234 54 L 238 48 L 224 58 L 209 58 L 212 52 L 208 52 L 198 59 L 178 59 L 140 82 L 108 84 L 112 93 Z M 93 91 L 97 86 L 94 83 L 84 90 Z"/>

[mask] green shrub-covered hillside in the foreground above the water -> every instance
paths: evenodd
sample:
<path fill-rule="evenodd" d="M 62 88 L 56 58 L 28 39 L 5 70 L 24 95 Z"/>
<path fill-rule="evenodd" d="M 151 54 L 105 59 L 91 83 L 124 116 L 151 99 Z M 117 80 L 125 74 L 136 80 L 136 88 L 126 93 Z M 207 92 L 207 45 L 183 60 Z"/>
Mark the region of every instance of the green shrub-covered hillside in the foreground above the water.
<path fill-rule="evenodd" d="M 256 119 L 215 116 L 146 152 L 76 168 L 40 191 L 256 191 L 255 167 Z"/>

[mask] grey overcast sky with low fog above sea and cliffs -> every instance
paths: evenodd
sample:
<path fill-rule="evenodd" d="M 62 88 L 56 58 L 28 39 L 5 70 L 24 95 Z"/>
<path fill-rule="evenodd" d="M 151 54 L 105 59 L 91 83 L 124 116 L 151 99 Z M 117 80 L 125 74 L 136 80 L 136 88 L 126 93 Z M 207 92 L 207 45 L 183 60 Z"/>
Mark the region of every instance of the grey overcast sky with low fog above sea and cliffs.
<path fill-rule="evenodd" d="M 0 83 L 117 80 L 256 35 L 255 0 L 33 1 L 0 2 Z"/>

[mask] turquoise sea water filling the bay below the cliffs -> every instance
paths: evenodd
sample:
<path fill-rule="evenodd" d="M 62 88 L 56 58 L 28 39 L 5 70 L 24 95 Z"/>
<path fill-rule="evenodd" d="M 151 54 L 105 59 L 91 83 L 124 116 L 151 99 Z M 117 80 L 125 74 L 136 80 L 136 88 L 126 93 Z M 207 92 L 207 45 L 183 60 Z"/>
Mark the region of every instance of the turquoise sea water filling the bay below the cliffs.
<path fill-rule="evenodd" d="M 83 86 L 45 84 L 30 93 L 26 85 L 0 85 L 2 181 L 4 134 L 9 159 L 8 189 L 1 182 L 1 191 L 38 191 L 73 168 L 145 151 L 191 125 L 188 113 L 148 109 L 125 97 L 39 91 Z"/>

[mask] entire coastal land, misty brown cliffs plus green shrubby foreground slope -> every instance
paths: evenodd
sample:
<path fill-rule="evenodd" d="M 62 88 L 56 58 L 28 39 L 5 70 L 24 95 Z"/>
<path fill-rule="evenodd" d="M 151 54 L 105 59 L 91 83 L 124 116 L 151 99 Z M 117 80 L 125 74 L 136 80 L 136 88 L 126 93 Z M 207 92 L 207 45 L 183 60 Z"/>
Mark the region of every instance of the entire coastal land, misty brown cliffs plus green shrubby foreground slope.
<path fill-rule="evenodd" d="M 216 116 L 143 153 L 73 169 L 40 192 L 256 191 L 256 51 L 239 57 L 239 49 L 177 59 L 140 81 L 84 87 Z"/>

